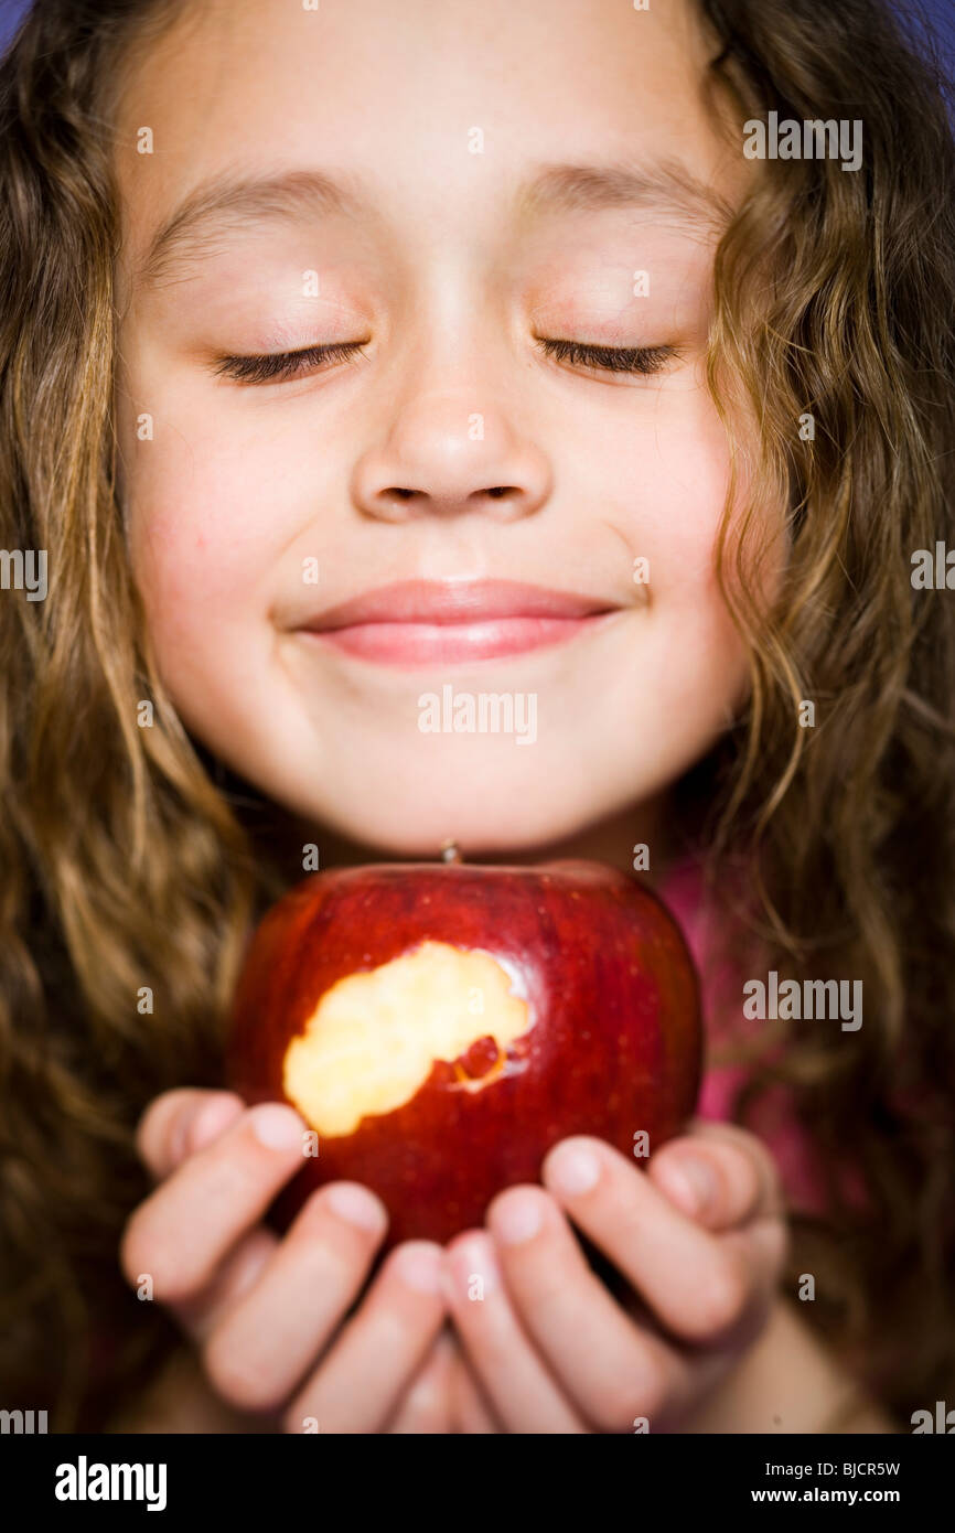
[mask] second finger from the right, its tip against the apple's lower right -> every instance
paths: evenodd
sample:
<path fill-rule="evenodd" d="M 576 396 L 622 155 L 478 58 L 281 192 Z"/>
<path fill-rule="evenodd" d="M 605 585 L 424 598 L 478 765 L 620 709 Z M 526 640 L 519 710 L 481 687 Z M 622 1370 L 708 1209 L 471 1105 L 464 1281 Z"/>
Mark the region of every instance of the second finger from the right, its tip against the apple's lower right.
<path fill-rule="evenodd" d="M 701 1229 L 602 1139 L 561 1141 L 544 1159 L 541 1180 L 684 1341 L 717 1340 L 774 1282 L 768 1240 L 750 1246 Z"/>

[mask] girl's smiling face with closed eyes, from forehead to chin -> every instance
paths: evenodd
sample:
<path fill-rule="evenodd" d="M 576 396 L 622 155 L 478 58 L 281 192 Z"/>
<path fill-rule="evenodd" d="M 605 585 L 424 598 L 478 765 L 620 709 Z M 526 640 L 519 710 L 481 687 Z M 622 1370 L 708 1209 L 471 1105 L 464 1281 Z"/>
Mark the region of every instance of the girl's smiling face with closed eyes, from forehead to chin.
<path fill-rule="evenodd" d="M 187 728 L 293 812 L 395 855 L 560 842 L 659 799 L 745 694 L 702 366 L 747 162 L 707 57 L 674 0 L 205 0 L 130 58 L 135 579 Z M 598 615 L 478 589 L 441 633 L 418 589 L 313 632 L 409 581 Z"/>

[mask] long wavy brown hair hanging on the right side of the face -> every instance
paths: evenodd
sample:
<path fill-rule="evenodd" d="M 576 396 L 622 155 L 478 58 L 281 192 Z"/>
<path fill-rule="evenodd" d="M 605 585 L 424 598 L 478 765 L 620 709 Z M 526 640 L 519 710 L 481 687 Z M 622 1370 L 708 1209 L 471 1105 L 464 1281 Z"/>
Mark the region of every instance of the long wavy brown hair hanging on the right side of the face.
<path fill-rule="evenodd" d="M 762 954 L 743 973 L 861 981 L 857 1032 L 766 1027 L 736 1110 L 791 1088 L 828 1217 L 794 1220 L 789 1292 L 817 1277 L 806 1314 L 907 1426 L 955 1387 L 955 604 L 912 579 L 955 549 L 950 87 L 869 0 L 705 11 L 747 120 L 865 133 L 855 173 L 768 161 L 716 256 L 710 385 L 730 438 L 734 403 L 757 415 L 760 461 L 719 544 L 753 693 L 704 840 L 711 888 L 731 860 L 757 894 L 727 927 Z M 789 507 L 771 610 L 745 579 L 763 497 Z"/>

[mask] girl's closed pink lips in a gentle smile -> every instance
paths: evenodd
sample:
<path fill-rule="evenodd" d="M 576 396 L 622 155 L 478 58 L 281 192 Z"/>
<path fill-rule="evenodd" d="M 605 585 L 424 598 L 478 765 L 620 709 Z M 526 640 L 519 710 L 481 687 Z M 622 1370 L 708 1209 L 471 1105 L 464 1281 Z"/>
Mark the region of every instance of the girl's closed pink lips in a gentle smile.
<path fill-rule="evenodd" d="M 412 579 L 340 602 L 300 632 L 382 664 L 455 664 L 560 644 L 618 610 L 605 599 L 518 581 Z"/>

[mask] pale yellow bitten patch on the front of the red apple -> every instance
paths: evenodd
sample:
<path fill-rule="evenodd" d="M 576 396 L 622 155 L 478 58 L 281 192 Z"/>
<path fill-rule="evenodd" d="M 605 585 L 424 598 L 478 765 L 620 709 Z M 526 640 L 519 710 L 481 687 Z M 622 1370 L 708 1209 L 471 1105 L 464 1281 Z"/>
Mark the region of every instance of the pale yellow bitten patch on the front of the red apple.
<path fill-rule="evenodd" d="M 319 1136 L 334 1137 L 409 1102 L 435 1061 L 454 1064 L 464 1090 L 484 1090 L 504 1073 L 507 1044 L 532 1026 L 529 1010 L 491 954 L 423 941 L 322 995 L 285 1053 L 285 1095 Z"/>

